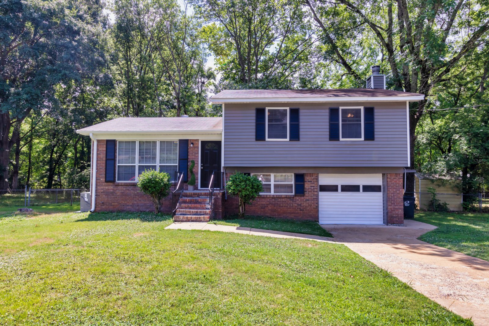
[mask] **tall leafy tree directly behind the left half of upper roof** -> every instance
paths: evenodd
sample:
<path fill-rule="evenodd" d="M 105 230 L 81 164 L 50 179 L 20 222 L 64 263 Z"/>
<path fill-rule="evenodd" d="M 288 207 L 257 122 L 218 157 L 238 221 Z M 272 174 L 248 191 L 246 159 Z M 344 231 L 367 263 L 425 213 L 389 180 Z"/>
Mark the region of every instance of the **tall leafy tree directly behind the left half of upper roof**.
<path fill-rule="evenodd" d="M 193 0 L 222 72 L 222 87 L 297 87 L 314 64 L 311 25 L 298 1 Z"/>

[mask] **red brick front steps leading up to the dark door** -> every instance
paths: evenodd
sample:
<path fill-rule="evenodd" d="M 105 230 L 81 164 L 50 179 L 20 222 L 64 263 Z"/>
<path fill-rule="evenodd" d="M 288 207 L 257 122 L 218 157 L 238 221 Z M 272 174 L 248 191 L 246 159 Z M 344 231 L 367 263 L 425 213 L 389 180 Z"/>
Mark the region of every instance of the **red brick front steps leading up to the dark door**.
<path fill-rule="evenodd" d="M 211 210 L 209 193 L 206 191 L 184 191 L 178 202 L 175 222 L 208 222 Z"/>

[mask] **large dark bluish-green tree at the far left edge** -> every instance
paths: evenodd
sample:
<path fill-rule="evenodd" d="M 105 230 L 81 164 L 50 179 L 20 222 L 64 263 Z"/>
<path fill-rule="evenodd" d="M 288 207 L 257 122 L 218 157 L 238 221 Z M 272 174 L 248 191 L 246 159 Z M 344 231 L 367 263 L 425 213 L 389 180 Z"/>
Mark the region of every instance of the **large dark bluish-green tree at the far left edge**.
<path fill-rule="evenodd" d="M 59 109 L 55 86 L 103 65 L 99 2 L 0 2 L 0 189 L 26 117 Z"/>

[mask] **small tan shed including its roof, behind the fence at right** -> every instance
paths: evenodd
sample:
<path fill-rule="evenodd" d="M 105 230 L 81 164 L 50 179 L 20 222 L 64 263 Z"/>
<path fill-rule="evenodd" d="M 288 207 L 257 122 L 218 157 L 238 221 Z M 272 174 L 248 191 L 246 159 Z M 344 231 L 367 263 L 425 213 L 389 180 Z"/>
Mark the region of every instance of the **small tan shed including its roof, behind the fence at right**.
<path fill-rule="evenodd" d="M 453 176 L 438 176 L 428 174 L 415 174 L 414 189 L 416 205 L 419 209 L 432 209 L 431 194 L 428 188 L 436 190 L 436 198 L 441 203 L 446 203 L 450 211 L 462 210 L 462 192 L 460 186 L 462 184 L 461 177 Z"/>

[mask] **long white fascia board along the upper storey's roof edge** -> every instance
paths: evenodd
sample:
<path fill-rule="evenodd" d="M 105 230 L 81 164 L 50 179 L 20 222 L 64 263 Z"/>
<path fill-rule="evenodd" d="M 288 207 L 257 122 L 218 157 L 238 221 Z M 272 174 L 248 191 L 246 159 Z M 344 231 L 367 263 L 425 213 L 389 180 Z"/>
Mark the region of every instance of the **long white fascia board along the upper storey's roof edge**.
<path fill-rule="evenodd" d="M 418 102 L 420 96 L 349 96 L 349 97 L 257 97 L 257 98 L 218 98 L 211 99 L 212 104 L 226 103 L 325 103 L 325 102 Z"/>

